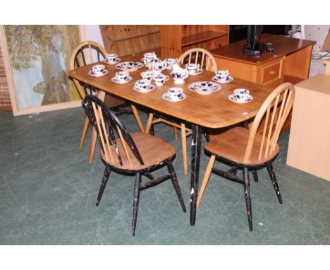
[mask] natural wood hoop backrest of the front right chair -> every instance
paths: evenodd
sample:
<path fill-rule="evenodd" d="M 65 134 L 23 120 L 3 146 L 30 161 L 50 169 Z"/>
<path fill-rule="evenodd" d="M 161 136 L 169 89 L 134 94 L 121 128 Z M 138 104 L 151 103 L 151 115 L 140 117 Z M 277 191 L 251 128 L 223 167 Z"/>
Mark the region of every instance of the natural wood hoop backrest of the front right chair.
<path fill-rule="evenodd" d="M 283 124 L 291 112 L 294 96 L 294 86 L 291 83 L 283 83 L 275 88 L 268 98 L 264 100 L 250 128 L 244 155 L 245 162 L 248 162 L 251 158 L 255 136 L 261 122 L 264 124 L 258 160 L 267 159 L 275 150 Z"/>

